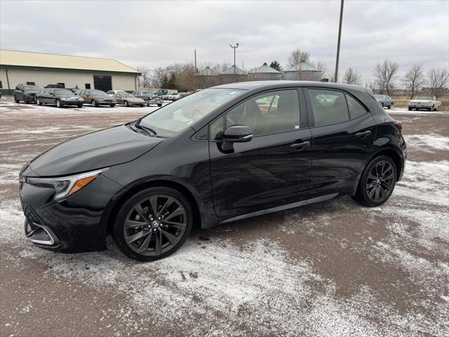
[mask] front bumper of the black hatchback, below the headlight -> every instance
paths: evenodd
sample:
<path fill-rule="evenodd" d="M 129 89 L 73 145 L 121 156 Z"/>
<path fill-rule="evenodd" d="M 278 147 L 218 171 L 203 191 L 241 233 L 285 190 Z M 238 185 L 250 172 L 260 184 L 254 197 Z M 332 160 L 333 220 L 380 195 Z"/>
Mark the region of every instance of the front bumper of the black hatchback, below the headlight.
<path fill-rule="evenodd" d="M 67 252 L 104 249 L 103 211 L 119 190 L 121 185 L 102 175 L 71 196 L 53 201 L 53 188 L 20 183 L 25 236 L 46 249 Z"/>

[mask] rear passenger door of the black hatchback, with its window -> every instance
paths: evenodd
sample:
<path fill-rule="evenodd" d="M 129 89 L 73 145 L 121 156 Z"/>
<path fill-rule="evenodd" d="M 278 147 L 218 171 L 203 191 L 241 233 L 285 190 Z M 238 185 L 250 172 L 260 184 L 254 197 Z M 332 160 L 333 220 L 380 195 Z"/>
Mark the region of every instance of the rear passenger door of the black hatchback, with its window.
<path fill-rule="evenodd" d="M 330 88 L 306 91 L 312 136 L 310 197 L 349 192 L 370 152 L 375 120 L 349 93 Z M 321 105 L 319 95 L 332 104 Z"/>

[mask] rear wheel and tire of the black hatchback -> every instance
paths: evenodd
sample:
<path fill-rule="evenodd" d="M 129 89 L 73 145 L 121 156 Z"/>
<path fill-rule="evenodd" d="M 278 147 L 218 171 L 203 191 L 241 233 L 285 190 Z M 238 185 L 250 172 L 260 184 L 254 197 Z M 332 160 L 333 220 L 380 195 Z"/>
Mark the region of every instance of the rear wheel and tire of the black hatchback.
<path fill-rule="evenodd" d="M 374 176 L 373 172 L 377 174 Z M 363 171 L 356 195 L 352 199 L 367 207 L 384 204 L 393 193 L 396 176 L 396 164 L 393 159 L 388 156 L 375 157 Z"/>

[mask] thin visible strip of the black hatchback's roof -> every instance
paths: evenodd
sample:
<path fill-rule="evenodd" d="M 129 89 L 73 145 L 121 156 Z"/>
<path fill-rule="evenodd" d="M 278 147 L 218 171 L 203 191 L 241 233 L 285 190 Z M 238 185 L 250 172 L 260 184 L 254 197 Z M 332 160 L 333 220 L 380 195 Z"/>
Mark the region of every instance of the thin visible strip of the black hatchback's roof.
<path fill-rule="evenodd" d="M 229 89 L 241 89 L 252 91 L 263 88 L 286 88 L 297 86 L 314 86 L 323 88 L 347 89 L 352 91 L 354 90 L 366 91 L 366 89 L 363 88 L 363 86 L 356 86 L 354 84 L 340 84 L 340 83 L 320 82 L 320 81 L 248 81 L 231 84 L 222 84 L 219 86 L 214 86 L 213 88 L 229 88 Z"/>

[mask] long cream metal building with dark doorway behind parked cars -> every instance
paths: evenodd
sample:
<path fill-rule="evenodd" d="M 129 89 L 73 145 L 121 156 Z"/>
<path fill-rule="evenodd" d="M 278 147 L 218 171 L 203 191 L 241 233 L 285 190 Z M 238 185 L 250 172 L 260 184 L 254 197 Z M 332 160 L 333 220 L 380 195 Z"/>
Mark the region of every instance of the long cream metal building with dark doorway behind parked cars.
<path fill-rule="evenodd" d="M 18 84 L 62 84 L 65 88 L 134 91 L 140 72 L 107 58 L 0 51 L 0 91 L 13 93 Z"/>

